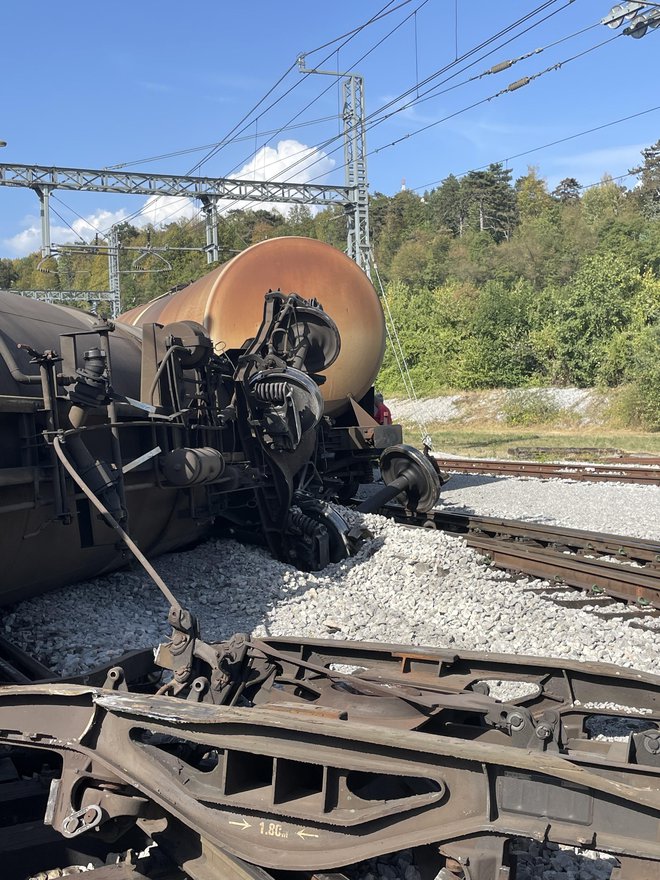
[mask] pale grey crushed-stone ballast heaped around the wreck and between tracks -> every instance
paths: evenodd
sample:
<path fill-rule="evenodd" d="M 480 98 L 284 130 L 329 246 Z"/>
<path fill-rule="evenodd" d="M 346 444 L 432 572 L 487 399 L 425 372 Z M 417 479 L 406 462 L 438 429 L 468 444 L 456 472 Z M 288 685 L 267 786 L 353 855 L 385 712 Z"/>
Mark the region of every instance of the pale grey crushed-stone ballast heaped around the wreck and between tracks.
<path fill-rule="evenodd" d="M 442 508 L 658 538 L 660 487 L 457 475 L 443 489 Z M 156 567 L 182 605 L 199 616 L 210 641 L 234 632 L 376 640 L 657 672 L 657 633 L 555 605 L 526 589 L 543 582 L 490 568 L 460 537 L 407 529 L 375 515 L 362 520 L 373 537 L 357 556 L 322 572 L 297 571 L 232 540 L 163 556 Z M 163 640 L 166 613 L 149 578 L 124 571 L 7 609 L 2 634 L 71 675 Z M 611 870 L 607 860 L 583 865 L 577 857 L 546 856 L 533 850 L 526 863 L 530 870 L 543 864 L 549 873 L 538 876 L 544 880 L 604 878 Z M 358 876 L 399 880 L 410 867 L 382 861 L 388 870 L 379 873 L 378 864 Z"/>

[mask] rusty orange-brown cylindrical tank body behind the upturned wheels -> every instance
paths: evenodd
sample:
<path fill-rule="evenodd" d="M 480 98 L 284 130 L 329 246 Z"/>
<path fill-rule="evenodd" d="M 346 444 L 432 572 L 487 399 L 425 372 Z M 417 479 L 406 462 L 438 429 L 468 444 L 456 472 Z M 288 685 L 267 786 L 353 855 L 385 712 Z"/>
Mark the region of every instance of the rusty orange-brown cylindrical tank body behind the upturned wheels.
<path fill-rule="evenodd" d="M 337 325 L 341 351 L 321 386 L 328 415 L 372 386 L 385 350 L 383 310 L 364 272 L 341 251 L 310 238 L 271 238 L 176 293 L 165 294 L 120 317 L 133 326 L 192 320 L 216 346 L 239 348 L 254 336 L 269 290 L 317 299 Z"/>

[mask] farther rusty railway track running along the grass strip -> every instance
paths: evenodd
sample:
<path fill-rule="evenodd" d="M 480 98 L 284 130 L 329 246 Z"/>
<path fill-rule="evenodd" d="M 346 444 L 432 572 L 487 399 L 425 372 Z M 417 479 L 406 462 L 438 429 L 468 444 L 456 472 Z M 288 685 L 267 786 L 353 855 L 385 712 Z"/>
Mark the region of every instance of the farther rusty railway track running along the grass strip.
<path fill-rule="evenodd" d="M 502 461 L 487 458 L 445 458 L 440 455 L 435 455 L 434 458 L 440 470 L 460 474 L 499 474 L 509 477 L 552 477 L 590 483 L 660 485 L 660 467 L 657 465 Z"/>

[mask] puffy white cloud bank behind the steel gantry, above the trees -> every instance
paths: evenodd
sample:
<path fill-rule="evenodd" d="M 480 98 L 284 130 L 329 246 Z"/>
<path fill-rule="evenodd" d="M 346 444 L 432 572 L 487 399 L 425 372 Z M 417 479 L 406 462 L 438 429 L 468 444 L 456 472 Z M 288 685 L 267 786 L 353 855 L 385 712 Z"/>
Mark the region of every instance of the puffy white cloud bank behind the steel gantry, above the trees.
<path fill-rule="evenodd" d="M 231 177 L 240 180 L 275 180 L 295 181 L 296 183 L 322 183 L 333 170 L 336 162 L 322 150 L 308 147 L 297 140 L 279 141 L 276 147 L 264 146 L 236 174 Z M 277 210 L 286 213 L 287 206 L 281 203 L 247 202 L 222 200 L 218 209 L 223 210 L 252 209 Z M 194 217 L 199 211 L 199 204 L 184 196 L 150 196 L 144 203 L 137 217 L 132 217 L 125 209 L 106 211 L 98 209 L 88 214 L 85 219 L 76 218 L 71 226 L 51 225 L 51 241 L 57 244 L 84 239 L 93 240 L 97 232 L 106 232 L 114 223 L 126 218 L 135 226 L 151 224 L 160 226 Z M 10 238 L 2 239 L 2 249 L 11 257 L 23 257 L 41 248 L 41 225 L 37 217 L 28 216 L 23 220 L 23 229 Z"/>

